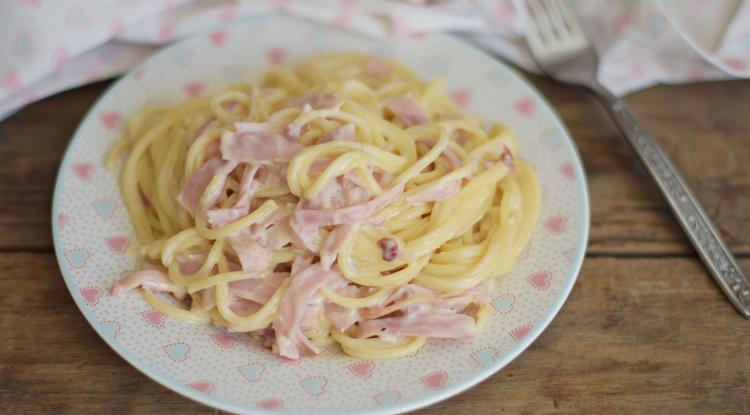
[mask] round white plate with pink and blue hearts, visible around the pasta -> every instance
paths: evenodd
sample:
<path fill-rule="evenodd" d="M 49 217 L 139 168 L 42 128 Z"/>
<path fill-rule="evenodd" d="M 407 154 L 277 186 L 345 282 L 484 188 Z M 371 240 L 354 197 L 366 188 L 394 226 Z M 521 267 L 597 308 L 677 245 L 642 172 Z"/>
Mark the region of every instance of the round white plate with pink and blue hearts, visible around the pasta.
<path fill-rule="evenodd" d="M 537 171 L 539 224 L 513 272 L 498 280 L 480 335 L 430 340 L 398 360 L 361 361 L 326 350 L 292 362 L 239 334 L 167 317 L 138 293 L 110 296 L 111 284 L 138 266 L 128 255 L 135 239 L 118 172 L 103 165 L 127 116 L 146 104 L 212 94 L 274 65 L 346 51 L 395 58 L 424 79 L 444 77 L 468 113 L 515 129 L 522 157 Z M 177 43 L 117 81 L 73 136 L 52 211 L 63 278 L 104 341 L 156 382 L 235 413 L 398 413 L 475 385 L 526 349 L 558 312 L 580 270 L 589 226 L 585 175 L 570 136 L 511 69 L 445 35 L 379 42 L 282 16 Z"/>

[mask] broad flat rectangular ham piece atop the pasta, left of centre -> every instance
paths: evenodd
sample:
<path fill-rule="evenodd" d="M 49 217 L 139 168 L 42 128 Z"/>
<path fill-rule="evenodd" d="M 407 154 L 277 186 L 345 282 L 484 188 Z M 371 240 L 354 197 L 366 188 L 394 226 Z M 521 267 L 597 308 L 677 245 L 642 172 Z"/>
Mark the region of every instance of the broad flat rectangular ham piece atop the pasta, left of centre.
<path fill-rule="evenodd" d="M 272 164 L 288 162 L 302 145 L 284 135 L 270 132 L 225 131 L 221 136 L 221 156 L 225 160 Z"/>

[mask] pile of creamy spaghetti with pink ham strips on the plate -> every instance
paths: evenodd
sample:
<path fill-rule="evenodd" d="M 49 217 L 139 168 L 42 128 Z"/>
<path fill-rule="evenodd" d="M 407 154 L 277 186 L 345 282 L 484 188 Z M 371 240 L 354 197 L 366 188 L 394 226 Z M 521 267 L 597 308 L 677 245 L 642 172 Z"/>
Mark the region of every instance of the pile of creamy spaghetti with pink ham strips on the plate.
<path fill-rule="evenodd" d="M 155 309 L 282 356 L 363 359 L 470 338 L 540 211 L 513 132 L 441 80 L 365 55 L 312 58 L 145 108 L 111 151 Z M 167 293 L 168 295 L 161 294 Z"/>

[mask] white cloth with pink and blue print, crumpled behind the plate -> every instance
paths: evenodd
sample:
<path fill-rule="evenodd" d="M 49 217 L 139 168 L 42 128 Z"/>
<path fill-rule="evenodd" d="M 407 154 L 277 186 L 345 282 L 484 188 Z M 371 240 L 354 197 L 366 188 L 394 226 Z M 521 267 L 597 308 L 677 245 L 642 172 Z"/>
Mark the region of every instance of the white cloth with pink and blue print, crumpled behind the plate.
<path fill-rule="evenodd" d="M 657 83 L 750 77 L 750 0 L 577 0 L 617 95 Z M 535 71 L 522 0 L 0 0 L 0 120 L 119 75 L 160 46 L 269 13 L 376 38 L 455 33 Z"/>

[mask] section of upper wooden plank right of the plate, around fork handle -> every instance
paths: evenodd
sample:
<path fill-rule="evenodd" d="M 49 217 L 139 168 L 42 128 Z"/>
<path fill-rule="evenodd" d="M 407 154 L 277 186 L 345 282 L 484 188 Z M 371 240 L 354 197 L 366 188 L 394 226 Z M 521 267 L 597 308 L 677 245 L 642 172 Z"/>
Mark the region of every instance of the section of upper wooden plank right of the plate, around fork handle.
<path fill-rule="evenodd" d="M 589 252 L 692 254 L 656 186 L 587 91 L 529 76 L 560 113 L 591 191 Z M 625 101 L 682 171 L 735 252 L 750 253 L 750 82 L 659 86 Z"/>

